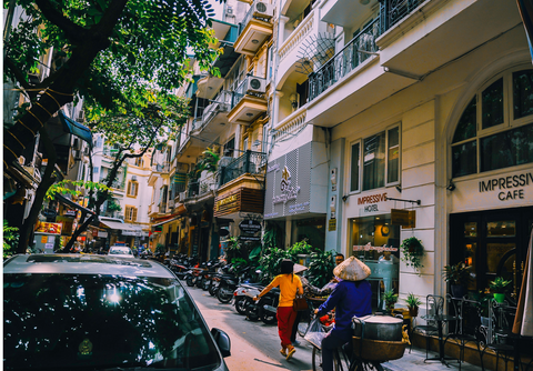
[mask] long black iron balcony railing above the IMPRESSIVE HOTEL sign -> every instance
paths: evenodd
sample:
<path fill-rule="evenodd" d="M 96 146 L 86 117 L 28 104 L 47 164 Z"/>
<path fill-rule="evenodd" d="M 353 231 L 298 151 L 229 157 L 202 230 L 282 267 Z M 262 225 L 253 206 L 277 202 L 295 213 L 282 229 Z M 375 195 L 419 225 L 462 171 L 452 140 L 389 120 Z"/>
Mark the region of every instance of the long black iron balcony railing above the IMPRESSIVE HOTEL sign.
<path fill-rule="evenodd" d="M 309 100 L 313 100 L 378 51 L 381 18 L 359 32 L 340 52 L 309 76 Z"/>

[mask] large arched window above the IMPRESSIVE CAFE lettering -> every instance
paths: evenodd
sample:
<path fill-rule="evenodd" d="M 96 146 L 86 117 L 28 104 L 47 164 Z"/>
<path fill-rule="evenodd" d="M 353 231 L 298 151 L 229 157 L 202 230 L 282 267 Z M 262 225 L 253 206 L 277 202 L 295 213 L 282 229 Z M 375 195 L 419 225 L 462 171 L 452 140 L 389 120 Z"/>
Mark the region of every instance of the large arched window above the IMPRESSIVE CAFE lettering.
<path fill-rule="evenodd" d="M 533 163 L 533 70 L 504 72 L 464 109 L 452 140 L 452 178 Z"/>

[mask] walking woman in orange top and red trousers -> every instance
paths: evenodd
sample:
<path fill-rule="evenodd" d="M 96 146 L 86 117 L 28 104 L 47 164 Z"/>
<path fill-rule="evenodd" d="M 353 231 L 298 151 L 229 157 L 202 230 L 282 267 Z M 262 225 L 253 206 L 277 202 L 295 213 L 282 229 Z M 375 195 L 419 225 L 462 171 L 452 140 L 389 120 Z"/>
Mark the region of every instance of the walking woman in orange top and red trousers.
<path fill-rule="evenodd" d="M 278 333 L 281 340 L 280 353 L 285 357 L 286 360 L 290 360 L 296 351 L 291 343 L 292 325 L 296 317 L 296 312 L 292 305 L 296 293 L 303 294 L 303 288 L 300 277 L 293 272 L 294 263 L 290 259 L 283 259 L 280 267 L 281 274 L 276 275 L 253 300 L 257 301 L 272 290 L 272 288 L 280 287 L 280 301 L 275 315 L 278 319 Z"/>

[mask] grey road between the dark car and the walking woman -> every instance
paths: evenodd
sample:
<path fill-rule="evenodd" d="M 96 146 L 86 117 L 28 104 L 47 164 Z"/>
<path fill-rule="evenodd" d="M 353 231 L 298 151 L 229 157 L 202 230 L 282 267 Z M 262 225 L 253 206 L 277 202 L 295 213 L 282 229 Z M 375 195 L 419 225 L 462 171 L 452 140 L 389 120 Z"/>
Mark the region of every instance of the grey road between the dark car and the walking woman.
<path fill-rule="evenodd" d="M 187 285 L 185 285 L 187 287 Z M 222 304 L 217 298 L 198 288 L 189 288 L 210 328 L 225 331 L 231 339 L 231 357 L 225 359 L 230 371 L 244 370 L 312 370 L 312 347 L 298 337 L 301 344 L 286 361 L 280 354 L 280 338 L 275 324 L 251 322 L 237 313 L 233 302 Z"/>

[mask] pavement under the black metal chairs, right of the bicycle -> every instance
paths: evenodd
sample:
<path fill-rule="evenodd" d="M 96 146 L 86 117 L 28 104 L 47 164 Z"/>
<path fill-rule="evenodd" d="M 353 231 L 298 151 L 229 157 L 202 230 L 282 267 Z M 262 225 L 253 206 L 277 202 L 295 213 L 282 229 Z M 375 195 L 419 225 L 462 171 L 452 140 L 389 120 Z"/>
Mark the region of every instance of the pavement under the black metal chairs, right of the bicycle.
<path fill-rule="evenodd" d="M 430 352 L 431 357 L 436 357 L 438 353 Z M 424 371 L 438 371 L 438 370 L 453 370 L 454 368 L 459 369 L 457 361 L 450 360 L 450 368 L 445 364 L 442 364 L 439 361 L 429 361 L 424 363 L 425 359 L 425 349 L 413 348 L 411 353 L 409 353 L 409 348 L 405 349 L 405 353 L 399 360 L 382 363 L 383 369 L 389 371 L 413 371 L 419 370 L 419 368 L 424 368 Z M 471 363 L 463 362 L 461 364 L 461 370 L 464 371 L 481 371 L 481 367 L 474 365 Z"/>

